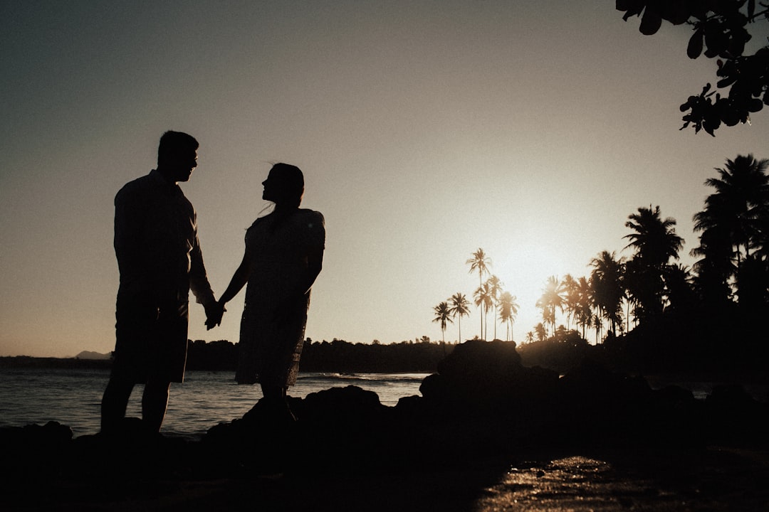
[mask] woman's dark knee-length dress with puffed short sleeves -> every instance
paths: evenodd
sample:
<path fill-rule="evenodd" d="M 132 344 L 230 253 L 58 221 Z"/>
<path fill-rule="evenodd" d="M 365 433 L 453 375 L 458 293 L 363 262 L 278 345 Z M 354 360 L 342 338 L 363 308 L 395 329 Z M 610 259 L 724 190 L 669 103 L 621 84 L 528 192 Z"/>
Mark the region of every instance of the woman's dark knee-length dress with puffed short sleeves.
<path fill-rule="evenodd" d="M 238 370 L 241 384 L 295 385 L 305 340 L 310 292 L 290 296 L 308 270 L 308 254 L 325 246 L 323 215 L 297 210 L 281 220 L 261 217 L 245 234 L 251 275 L 241 319 Z"/>

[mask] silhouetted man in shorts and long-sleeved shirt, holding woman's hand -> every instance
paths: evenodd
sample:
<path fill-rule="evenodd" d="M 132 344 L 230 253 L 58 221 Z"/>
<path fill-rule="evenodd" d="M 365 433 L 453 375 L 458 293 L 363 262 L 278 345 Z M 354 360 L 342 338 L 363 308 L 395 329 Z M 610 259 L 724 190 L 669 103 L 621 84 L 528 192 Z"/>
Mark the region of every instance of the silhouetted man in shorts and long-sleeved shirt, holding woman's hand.
<path fill-rule="evenodd" d="M 148 431 L 160 431 L 171 382 L 184 380 L 190 290 L 206 310 L 208 329 L 221 322 L 198 243 L 195 209 L 178 186 L 197 165 L 195 137 L 167 131 L 158 145 L 157 169 L 115 196 L 120 287 L 102 431 L 122 421 L 131 391 L 141 382 L 143 424 Z"/>

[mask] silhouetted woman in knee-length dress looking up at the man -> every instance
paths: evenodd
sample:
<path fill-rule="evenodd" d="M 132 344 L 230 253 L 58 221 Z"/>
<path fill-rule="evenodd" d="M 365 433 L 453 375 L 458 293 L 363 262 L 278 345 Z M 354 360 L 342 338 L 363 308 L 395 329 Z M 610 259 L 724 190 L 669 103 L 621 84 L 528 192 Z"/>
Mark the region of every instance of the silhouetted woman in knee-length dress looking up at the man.
<path fill-rule="evenodd" d="M 218 305 L 224 312 L 248 282 L 235 379 L 258 382 L 268 404 L 293 419 L 286 391 L 296 383 L 310 289 L 323 264 L 325 220 L 299 208 L 305 179 L 298 167 L 275 164 L 262 185 L 262 199 L 275 209 L 246 231 L 245 255 Z"/>

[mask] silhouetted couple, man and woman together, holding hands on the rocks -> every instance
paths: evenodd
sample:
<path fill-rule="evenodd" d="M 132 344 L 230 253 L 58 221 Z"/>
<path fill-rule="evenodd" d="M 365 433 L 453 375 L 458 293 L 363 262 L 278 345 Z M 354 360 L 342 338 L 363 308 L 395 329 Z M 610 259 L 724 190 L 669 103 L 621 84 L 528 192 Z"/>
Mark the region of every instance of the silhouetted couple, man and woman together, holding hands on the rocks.
<path fill-rule="evenodd" d="M 295 420 L 286 391 L 296 383 L 310 289 L 321 272 L 325 220 L 301 209 L 305 180 L 298 167 L 275 164 L 262 199 L 275 208 L 248 228 L 245 253 L 216 300 L 208 282 L 195 208 L 178 183 L 198 165 L 198 141 L 167 131 L 157 168 L 115 196 L 115 255 L 120 271 L 115 358 L 102 398 L 102 432 L 119 430 L 134 386 L 144 383 L 143 427 L 160 431 L 171 382 L 183 382 L 188 296 L 205 309 L 205 325 L 221 324 L 225 304 L 246 286 L 238 343 L 240 384 L 261 385 L 276 418 Z"/>

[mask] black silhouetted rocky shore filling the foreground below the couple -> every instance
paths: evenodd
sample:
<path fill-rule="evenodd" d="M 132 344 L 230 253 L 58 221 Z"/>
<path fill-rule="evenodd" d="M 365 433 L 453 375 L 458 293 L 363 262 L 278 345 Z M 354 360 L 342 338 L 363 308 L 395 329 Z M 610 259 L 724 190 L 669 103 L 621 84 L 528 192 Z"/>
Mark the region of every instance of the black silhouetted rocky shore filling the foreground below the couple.
<path fill-rule="evenodd" d="M 706 400 L 584 362 L 563 377 L 514 343 L 466 342 L 421 396 L 350 386 L 260 401 L 189 441 L 0 430 L 0 510 L 769 510 L 769 406 Z"/>

